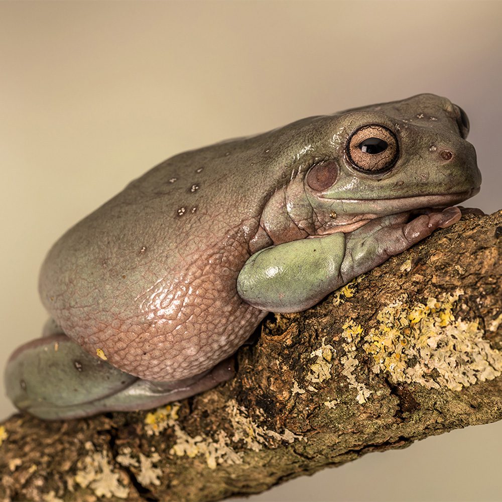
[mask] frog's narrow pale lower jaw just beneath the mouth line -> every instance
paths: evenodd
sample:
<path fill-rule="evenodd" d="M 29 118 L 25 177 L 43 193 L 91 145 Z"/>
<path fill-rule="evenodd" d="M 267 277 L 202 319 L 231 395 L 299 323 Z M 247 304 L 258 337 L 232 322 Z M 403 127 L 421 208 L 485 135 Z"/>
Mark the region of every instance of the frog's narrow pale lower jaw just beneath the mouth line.
<path fill-rule="evenodd" d="M 341 209 L 341 214 L 364 214 L 368 219 L 378 218 L 388 214 L 398 214 L 407 211 L 416 211 L 423 208 L 443 209 L 453 206 L 472 197 L 479 192 L 479 188 L 472 188 L 464 192 L 450 194 L 413 195 L 386 199 L 338 199 L 336 205 Z M 323 200 L 332 199 L 323 198 Z"/>

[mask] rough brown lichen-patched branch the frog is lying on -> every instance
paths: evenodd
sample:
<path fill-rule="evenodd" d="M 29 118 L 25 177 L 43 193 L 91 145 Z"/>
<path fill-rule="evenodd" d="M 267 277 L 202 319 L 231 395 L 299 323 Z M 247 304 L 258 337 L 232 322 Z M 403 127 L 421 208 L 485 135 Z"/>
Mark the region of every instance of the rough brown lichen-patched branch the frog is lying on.
<path fill-rule="evenodd" d="M 502 418 L 502 211 L 316 307 L 269 315 L 232 381 L 155 413 L 0 426 L 0 499 L 219 500 Z M 301 285 L 299 285 L 301 287 Z"/>

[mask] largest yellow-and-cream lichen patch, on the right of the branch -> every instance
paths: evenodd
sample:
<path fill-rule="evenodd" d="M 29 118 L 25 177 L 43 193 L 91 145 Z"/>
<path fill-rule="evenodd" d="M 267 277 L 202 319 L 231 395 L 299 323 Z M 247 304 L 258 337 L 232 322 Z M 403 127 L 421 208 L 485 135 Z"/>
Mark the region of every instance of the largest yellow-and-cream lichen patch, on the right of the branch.
<path fill-rule="evenodd" d="M 394 382 L 456 391 L 502 374 L 502 353 L 483 338 L 479 321 L 453 315 L 462 293 L 412 305 L 404 294 L 383 308 L 378 328 L 369 331 L 363 344 L 373 358 L 373 371 L 389 373 Z"/>

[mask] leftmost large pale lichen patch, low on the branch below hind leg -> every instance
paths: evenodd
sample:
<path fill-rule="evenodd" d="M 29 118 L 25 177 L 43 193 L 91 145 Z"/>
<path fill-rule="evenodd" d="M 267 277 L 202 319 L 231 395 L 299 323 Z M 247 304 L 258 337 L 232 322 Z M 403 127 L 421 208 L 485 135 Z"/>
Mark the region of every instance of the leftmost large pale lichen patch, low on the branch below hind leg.
<path fill-rule="evenodd" d="M 85 449 L 89 452 L 77 463 L 75 481 L 87 488 L 89 486 L 98 497 L 126 498 L 129 495 L 129 487 L 119 483 L 127 482 L 127 476 L 113 471 L 108 463 L 107 454 L 104 451 L 95 451 L 94 445 L 88 441 Z"/>

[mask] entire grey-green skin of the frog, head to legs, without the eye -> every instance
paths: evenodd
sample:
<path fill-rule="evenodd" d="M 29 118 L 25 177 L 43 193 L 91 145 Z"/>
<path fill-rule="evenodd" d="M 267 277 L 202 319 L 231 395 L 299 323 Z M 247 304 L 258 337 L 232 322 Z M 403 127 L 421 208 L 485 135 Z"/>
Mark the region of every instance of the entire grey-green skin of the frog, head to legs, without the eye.
<path fill-rule="evenodd" d="M 399 149 L 376 172 L 347 146 L 368 124 Z M 9 397 L 62 419 L 228 380 L 229 356 L 267 312 L 305 310 L 460 218 L 451 206 L 481 183 L 467 132 L 458 107 L 421 94 L 163 162 L 50 250 L 40 294 L 51 320 L 12 354 Z"/>

